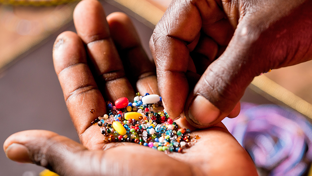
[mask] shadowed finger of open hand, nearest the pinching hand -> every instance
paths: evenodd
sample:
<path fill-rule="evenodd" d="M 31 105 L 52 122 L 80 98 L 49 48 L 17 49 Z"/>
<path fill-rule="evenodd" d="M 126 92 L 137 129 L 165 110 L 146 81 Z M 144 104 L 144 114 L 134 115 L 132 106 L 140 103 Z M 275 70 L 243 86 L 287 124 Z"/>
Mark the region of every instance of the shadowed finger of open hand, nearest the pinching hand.
<path fill-rule="evenodd" d="M 130 18 L 120 12 L 107 16 L 107 22 L 127 73 L 127 78 L 141 94 L 158 94 L 156 68 L 142 48 Z"/>

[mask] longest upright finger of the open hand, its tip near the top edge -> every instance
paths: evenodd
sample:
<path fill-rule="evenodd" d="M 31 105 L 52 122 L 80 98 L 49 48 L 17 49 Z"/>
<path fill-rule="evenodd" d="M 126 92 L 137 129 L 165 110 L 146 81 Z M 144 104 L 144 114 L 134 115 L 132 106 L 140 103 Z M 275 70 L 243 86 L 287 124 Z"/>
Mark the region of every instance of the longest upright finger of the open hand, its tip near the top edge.
<path fill-rule="evenodd" d="M 78 36 L 86 44 L 90 61 L 103 95 L 110 101 L 120 97 L 134 98 L 134 90 L 125 77 L 118 51 L 110 37 L 105 12 L 100 2 L 83 0 L 74 10 Z"/>

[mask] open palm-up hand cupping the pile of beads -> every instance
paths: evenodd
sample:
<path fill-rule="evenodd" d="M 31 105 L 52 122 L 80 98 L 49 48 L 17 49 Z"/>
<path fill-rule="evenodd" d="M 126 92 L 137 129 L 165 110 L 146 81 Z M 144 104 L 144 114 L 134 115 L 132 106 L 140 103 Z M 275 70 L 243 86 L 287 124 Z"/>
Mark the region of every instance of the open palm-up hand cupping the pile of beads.
<path fill-rule="evenodd" d="M 4 142 L 8 158 L 35 163 L 61 176 L 257 175 L 248 153 L 222 123 L 204 130 L 192 128 L 192 135 L 201 138 L 185 153 L 164 154 L 136 143 L 104 143 L 100 127 L 91 121 L 106 113 L 105 100 L 131 99 L 136 91 L 159 94 L 155 67 L 125 14 L 106 17 L 98 1 L 83 0 L 74 11 L 74 23 L 77 34 L 64 32 L 57 37 L 53 61 L 81 144 L 51 131 L 22 131 Z M 185 118 L 177 122 L 191 128 Z"/>

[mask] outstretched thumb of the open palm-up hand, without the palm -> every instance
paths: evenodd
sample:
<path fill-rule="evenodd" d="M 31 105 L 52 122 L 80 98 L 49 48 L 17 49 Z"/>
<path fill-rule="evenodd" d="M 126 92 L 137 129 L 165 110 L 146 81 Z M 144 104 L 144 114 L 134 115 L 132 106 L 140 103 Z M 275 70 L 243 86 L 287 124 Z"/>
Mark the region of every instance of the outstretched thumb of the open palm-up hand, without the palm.
<path fill-rule="evenodd" d="M 3 144 L 7 158 L 21 163 L 35 163 L 59 175 L 73 175 L 73 166 L 87 151 L 79 143 L 46 130 L 27 130 L 12 134 Z M 77 174 L 79 175 L 79 174 Z"/>

